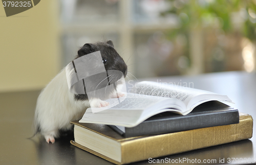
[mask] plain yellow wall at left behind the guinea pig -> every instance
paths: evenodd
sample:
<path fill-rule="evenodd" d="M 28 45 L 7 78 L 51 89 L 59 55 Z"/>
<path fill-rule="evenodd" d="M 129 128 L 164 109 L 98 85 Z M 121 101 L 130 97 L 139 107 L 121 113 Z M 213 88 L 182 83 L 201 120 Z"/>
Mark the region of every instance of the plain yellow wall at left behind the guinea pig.
<path fill-rule="evenodd" d="M 58 1 L 10 17 L 0 4 L 0 92 L 40 89 L 60 70 Z"/>

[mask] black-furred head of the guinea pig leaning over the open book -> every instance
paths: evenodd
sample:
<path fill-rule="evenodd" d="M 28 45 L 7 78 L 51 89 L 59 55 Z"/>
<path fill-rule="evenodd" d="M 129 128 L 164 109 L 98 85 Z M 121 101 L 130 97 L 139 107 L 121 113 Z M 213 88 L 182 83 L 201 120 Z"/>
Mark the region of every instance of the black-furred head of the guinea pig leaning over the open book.
<path fill-rule="evenodd" d="M 107 86 L 111 84 L 119 85 L 123 83 L 123 79 L 121 78 L 124 78 L 127 74 L 127 65 L 114 49 L 114 44 L 111 40 L 108 40 L 106 42 L 84 44 L 82 48 L 78 51 L 78 55 L 76 58 L 83 58 L 83 56 L 86 57 L 87 55 L 89 57 L 89 54 L 98 51 L 100 52 L 102 61 L 101 59 L 98 59 L 98 61 L 100 61 L 100 64 L 95 63 L 95 66 L 93 66 L 95 68 L 93 69 L 97 69 L 97 67 L 102 68 L 104 66 L 106 72 L 97 73 L 84 79 L 84 85 L 86 86 L 87 94 L 89 94 L 88 92 L 91 91 L 100 91 L 104 89 L 102 92 L 95 92 L 93 94 L 94 98 L 104 99 L 106 98 L 108 93 L 111 93 L 114 90 L 113 87 Z"/>

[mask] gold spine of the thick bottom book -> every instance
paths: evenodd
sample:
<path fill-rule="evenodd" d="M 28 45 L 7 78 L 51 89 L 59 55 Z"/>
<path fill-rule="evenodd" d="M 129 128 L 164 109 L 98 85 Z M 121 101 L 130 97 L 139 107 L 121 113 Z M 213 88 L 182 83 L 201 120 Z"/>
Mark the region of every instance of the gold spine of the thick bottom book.
<path fill-rule="evenodd" d="M 147 136 L 122 142 L 122 163 L 156 158 L 221 145 L 252 137 L 252 117 L 240 115 L 239 124 Z"/>

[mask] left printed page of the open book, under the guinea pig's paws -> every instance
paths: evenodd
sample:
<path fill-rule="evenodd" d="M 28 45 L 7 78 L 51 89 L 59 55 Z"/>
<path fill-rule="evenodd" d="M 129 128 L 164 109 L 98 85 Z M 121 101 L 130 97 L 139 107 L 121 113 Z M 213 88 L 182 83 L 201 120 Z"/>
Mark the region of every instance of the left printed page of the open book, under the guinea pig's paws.
<path fill-rule="evenodd" d="M 123 102 L 109 109 L 93 113 L 92 109 L 88 108 L 79 122 L 133 127 L 156 114 L 159 110 L 172 111 L 172 109 L 167 108 L 175 106 L 175 100 L 127 93 Z M 106 101 L 111 104 L 111 99 Z M 174 111 L 178 110 L 175 109 Z"/>

